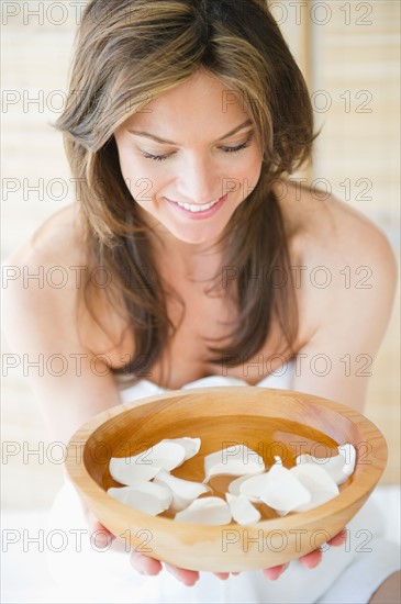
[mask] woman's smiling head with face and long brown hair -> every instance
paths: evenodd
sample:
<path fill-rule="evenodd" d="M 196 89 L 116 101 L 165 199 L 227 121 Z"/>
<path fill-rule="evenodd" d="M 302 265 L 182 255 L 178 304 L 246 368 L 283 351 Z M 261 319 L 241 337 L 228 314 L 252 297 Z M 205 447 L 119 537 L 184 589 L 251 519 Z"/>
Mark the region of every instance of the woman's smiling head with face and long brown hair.
<path fill-rule="evenodd" d="M 113 275 L 135 334 L 135 353 L 116 371 L 154 367 L 176 329 L 165 291 L 183 302 L 171 280 L 160 280 L 167 250 L 169 266 L 175 258 L 187 268 L 208 253 L 201 277 L 220 294 L 222 267 L 238 269 L 223 292 L 237 288 L 237 316 L 220 347 L 210 346 L 208 363 L 252 357 L 274 321 L 282 332 L 277 351 L 291 357 L 297 303 L 271 186 L 309 157 L 314 136 L 307 86 L 276 22 L 264 2 L 247 2 L 246 15 L 244 2 L 122 2 L 112 13 L 111 24 L 109 4 L 88 7 L 57 126 L 81 183 L 88 258 Z M 93 43 L 99 19 L 108 30 Z M 127 35 L 127 23 L 141 33 Z M 287 287 L 244 279 L 275 265 Z M 88 302 L 90 289 L 88 280 Z"/>

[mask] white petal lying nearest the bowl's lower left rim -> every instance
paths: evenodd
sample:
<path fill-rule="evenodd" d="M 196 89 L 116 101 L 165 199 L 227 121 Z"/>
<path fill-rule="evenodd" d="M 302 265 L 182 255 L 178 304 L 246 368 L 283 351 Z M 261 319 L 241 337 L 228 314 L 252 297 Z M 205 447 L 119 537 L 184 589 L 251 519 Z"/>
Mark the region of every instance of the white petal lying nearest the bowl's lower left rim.
<path fill-rule="evenodd" d="M 108 490 L 108 495 L 152 516 L 168 510 L 172 501 L 169 489 L 153 482 L 143 482 L 135 486 L 111 488 Z"/>

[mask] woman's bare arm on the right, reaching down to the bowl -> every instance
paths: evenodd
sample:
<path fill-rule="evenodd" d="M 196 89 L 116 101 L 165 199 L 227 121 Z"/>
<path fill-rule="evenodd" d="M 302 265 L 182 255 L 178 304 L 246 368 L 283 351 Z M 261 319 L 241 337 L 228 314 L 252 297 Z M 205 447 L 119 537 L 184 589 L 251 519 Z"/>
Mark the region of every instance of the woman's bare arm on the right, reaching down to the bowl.
<path fill-rule="evenodd" d="M 293 390 L 363 412 L 391 315 L 398 269 L 382 232 L 333 203 L 334 226 L 323 232 L 325 242 L 318 239 L 303 262 L 302 312 L 313 315 L 314 329 L 297 355 Z"/>

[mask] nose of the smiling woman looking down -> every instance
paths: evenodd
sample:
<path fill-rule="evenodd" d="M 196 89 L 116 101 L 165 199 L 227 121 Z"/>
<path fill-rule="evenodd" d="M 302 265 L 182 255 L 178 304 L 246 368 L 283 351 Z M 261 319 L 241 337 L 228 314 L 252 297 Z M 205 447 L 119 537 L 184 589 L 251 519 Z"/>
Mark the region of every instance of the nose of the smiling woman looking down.
<path fill-rule="evenodd" d="M 208 157 L 188 157 L 180 165 L 177 178 L 177 190 L 180 201 L 202 205 L 216 201 L 223 195 L 222 179 L 215 165 Z"/>

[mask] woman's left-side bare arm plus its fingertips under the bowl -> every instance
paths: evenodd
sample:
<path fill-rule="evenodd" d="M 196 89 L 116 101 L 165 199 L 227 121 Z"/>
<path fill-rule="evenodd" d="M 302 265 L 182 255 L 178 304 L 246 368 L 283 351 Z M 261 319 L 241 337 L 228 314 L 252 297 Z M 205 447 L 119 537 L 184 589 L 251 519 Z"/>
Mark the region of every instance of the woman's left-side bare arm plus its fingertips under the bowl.
<path fill-rule="evenodd" d="M 30 268 L 31 275 L 37 275 L 44 267 L 48 271 L 52 266 L 64 266 L 67 262 L 48 261 L 44 256 L 26 248 L 10 256 L 5 262 L 23 273 L 23 267 Z M 68 262 L 69 266 L 73 264 Z M 77 265 L 76 265 L 77 266 Z M 18 270 L 19 269 L 19 270 Z M 74 282 L 74 281 L 71 281 Z M 120 398 L 110 368 L 91 354 L 79 340 L 76 324 L 76 297 L 74 287 L 63 289 L 52 288 L 44 280 L 32 280 L 25 287 L 26 280 L 16 279 L 8 283 L 4 302 L 5 333 L 14 354 L 26 355 L 30 361 L 35 361 L 43 355 L 43 374 L 36 368 L 29 372 L 30 384 L 34 391 L 51 436 L 65 445 L 74 432 L 91 416 L 119 404 Z M 43 284 L 44 287 L 40 287 Z M 66 359 L 67 371 L 56 377 L 57 362 L 48 359 Z M 69 362 L 71 361 L 71 362 Z M 51 371 L 46 370 L 46 365 Z M 104 528 L 96 517 L 85 510 L 90 534 L 97 532 L 97 545 L 100 544 L 100 532 L 103 532 L 103 546 L 108 547 L 114 536 Z M 133 551 L 132 566 L 138 572 L 158 574 L 161 563 L 158 560 Z M 166 567 L 169 572 L 186 584 L 193 584 L 199 574 L 194 571 Z M 226 573 L 220 574 L 226 577 Z"/>

